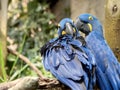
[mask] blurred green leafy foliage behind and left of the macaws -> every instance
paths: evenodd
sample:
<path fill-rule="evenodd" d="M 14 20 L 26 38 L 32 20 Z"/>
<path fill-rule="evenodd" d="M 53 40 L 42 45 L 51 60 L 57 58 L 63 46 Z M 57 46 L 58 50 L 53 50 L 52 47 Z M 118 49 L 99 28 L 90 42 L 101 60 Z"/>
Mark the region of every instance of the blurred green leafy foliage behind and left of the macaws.
<path fill-rule="evenodd" d="M 54 15 L 49 12 L 46 3 L 37 0 L 18 0 L 9 4 L 8 36 L 17 44 L 17 51 L 28 57 L 44 75 L 46 72 L 41 63 L 40 47 L 56 35 Z M 8 54 L 7 73 L 10 80 L 25 75 L 36 75 L 26 64 L 11 53 Z"/>

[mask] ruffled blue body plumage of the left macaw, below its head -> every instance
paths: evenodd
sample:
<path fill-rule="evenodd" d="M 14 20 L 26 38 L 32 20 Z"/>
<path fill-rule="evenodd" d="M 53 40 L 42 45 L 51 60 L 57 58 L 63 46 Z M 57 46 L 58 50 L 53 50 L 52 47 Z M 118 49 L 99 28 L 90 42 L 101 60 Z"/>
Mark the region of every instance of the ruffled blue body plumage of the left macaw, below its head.
<path fill-rule="evenodd" d="M 79 40 L 70 35 L 48 42 L 41 49 L 44 67 L 72 90 L 86 90 L 93 78 L 89 75 L 95 63 L 91 63 L 84 48 Z"/>

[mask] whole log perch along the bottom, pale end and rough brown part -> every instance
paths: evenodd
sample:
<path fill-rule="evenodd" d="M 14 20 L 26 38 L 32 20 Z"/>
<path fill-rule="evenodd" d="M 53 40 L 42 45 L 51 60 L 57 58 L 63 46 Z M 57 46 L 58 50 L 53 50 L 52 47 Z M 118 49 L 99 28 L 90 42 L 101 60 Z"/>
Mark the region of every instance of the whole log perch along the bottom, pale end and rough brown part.
<path fill-rule="evenodd" d="M 0 90 L 70 90 L 56 79 L 24 77 L 0 84 Z"/>

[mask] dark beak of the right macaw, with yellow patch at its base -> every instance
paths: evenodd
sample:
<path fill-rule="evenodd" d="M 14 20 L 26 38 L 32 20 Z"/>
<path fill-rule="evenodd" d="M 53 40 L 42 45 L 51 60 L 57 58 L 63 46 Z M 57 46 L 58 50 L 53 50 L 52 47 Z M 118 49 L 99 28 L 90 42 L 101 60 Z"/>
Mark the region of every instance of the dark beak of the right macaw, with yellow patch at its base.
<path fill-rule="evenodd" d="M 92 25 L 91 24 L 84 23 L 79 18 L 76 19 L 74 24 L 75 24 L 76 28 L 78 30 L 80 30 L 81 32 L 85 33 L 85 35 L 88 35 L 92 30 Z"/>

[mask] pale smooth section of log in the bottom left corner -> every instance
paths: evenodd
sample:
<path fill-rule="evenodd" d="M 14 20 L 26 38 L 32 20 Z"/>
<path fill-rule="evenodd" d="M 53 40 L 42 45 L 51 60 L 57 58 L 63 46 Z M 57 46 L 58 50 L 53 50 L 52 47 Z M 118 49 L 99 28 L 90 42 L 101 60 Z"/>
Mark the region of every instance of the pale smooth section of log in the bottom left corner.
<path fill-rule="evenodd" d="M 0 84 L 0 90 L 35 90 L 38 87 L 38 77 L 24 77 Z"/>

